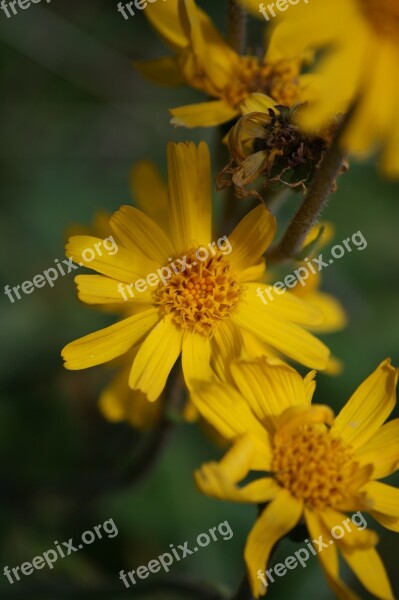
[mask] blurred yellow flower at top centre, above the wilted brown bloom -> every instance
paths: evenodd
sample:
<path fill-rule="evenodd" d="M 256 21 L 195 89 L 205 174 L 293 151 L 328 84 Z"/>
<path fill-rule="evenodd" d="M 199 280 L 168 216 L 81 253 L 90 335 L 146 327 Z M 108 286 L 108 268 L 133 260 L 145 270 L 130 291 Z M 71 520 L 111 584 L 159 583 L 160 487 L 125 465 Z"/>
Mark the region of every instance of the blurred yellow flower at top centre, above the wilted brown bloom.
<path fill-rule="evenodd" d="M 302 98 L 300 61 L 296 57 L 270 61 L 266 56 L 239 56 L 194 0 L 157 2 L 148 5 L 146 15 L 174 56 L 137 61 L 139 71 L 162 84 L 185 82 L 212 98 L 171 110 L 174 125 L 226 123 L 242 113 L 244 102 L 254 92 L 263 92 L 284 106 Z"/>

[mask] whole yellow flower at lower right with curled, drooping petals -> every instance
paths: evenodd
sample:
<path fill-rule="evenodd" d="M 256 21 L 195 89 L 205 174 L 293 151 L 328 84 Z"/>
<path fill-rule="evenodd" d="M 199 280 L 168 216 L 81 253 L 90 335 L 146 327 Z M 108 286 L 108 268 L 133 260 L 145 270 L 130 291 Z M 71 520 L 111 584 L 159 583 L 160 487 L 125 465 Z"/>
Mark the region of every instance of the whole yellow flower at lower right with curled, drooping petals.
<path fill-rule="evenodd" d="M 222 500 L 268 503 L 245 548 L 252 593 L 265 593 L 273 546 L 304 519 L 310 538 L 327 543 L 318 557 L 338 597 L 357 598 L 339 576 L 339 551 L 371 594 L 393 599 L 373 531 L 352 528 L 329 540 L 345 513 L 359 510 L 399 531 L 399 490 L 377 481 L 399 465 L 399 419 L 384 425 L 396 402 L 397 370 L 381 363 L 336 418 L 327 406 L 311 405 L 314 373 L 302 379 L 259 359 L 234 364 L 232 376 L 234 386 L 208 383 L 193 394 L 200 413 L 233 442 L 219 463 L 202 466 L 196 482 Z M 244 482 L 254 471 L 259 478 Z"/>

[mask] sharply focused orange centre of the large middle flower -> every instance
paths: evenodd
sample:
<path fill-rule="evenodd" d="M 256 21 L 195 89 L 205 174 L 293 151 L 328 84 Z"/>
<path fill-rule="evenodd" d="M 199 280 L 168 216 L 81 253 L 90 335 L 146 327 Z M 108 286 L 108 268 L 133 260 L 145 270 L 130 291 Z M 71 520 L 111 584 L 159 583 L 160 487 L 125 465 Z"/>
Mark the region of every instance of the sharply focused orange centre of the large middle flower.
<path fill-rule="evenodd" d="M 174 272 L 166 285 L 154 291 L 155 304 L 181 329 L 211 336 L 223 319 L 237 306 L 241 287 L 230 263 L 217 253 L 206 260 L 192 250 L 185 265 Z M 172 271 L 172 265 L 168 265 Z"/>

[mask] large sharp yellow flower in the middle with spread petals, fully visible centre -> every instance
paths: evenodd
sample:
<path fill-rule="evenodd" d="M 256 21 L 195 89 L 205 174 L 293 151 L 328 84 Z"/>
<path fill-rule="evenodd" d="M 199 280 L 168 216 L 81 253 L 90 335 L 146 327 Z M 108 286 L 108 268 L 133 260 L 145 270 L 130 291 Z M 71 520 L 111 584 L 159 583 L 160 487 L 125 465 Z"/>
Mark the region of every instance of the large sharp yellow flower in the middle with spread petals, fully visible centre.
<path fill-rule="evenodd" d="M 84 302 L 124 305 L 125 298 L 145 310 L 68 344 L 62 352 L 66 368 L 109 362 L 139 346 L 129 385 L 154 401 L 180 354 L 191 388 L 193 381 L 211 377 L 212 368 L 223 371 L 244 352 L 242 331 L 292 360 L 325 368 L 328 349 L 304 329 L 319 322 L 319 311 L 289 293 L 269 307 L 256 296 L 265 269 L 263 253 L 276 229 L 274 217 L 259 205 L 228 238 L 212 242 L 206 144 L 169 144 L 168 165 L 170 235 L 140 210 L 123 206 L 110 221 L 118 252 L 87 265 L 99 275 L 77 277 Z M 96 243 L 90 236 L 72 237 L 67 254 L 82 256 Z M 165 276 L 169 272 L 164 283 L 160 269 Z M 134 290 L 132 297 L 128 289 Z"/>

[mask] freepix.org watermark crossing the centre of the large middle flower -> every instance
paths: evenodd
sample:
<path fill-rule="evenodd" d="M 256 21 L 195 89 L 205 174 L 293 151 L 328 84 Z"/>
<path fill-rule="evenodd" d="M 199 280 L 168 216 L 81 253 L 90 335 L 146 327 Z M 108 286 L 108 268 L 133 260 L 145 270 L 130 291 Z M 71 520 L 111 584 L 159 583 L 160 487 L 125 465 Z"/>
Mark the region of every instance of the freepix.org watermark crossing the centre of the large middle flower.
<path fill-rule="evenodd" d="M 216 249 L 217 248 L 217 249 Z M 148 290 L 148 286 L 156 287 L 162 282 L 163 285 L 166 285 L 169 279 L 173 274 L 178 275 L 179 273 L 184 273 L 189 269 L 197 266 L 200 262 L 205 262 L 208 260 L 210 256 L 215 256 L 217 251 L 221 252 L 221 254 L 226 255 L 230 254 L 233 250 L 232 245 L 229 242 L 227 235 L 219 238 L 217 242 L 211 242 L 208 246 L 201 246 L 197 248 L 195 251 L 195 258 L 197 262 L 190 261 L 187 262 L 187 256 L 183 256 L 183 258 L 169 258 L 169 264 L 158 269 L 156 273 L 150 273 L 147 275 L 146 279 L 137 279 L 129 284 L 119 283 L 118 284 L 118 292 L 122 296 L 125 302 L 128 302 L 130 299 L 134 298 L 135 292 L 145 292 Z M 129 295 L 127 295 L 127 293 Z"/>

